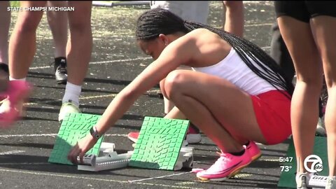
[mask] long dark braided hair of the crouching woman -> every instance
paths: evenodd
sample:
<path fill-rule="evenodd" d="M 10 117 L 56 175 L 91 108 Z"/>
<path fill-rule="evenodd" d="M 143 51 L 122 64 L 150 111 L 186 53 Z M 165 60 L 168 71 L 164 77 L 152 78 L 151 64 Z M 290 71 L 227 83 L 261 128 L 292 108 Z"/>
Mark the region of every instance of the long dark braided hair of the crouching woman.
<path fill-rule="evenodd" d="M 209 31 L 221 36 L 236 50 L 248 68 L 260 76 L 260 78 L 267 80 L 277 90 L 286 90 L 291 97 L 294 90 L 293 83 L 286 77 L 281 67 L 276 64 L 272 57 L 267 55 L 257 45 L 251 43 L 251 41 L 247 41 L 245 38 L 241 38 L 235 34 L 230 34 L 222 29 L 183 20 L 164 8 L 153 8 L 139 17 L 136 38 L 137 40 L 151 41 L 160 34 L 174 34 L 178 31 L 188 33 L 197 28 L 209 29 Z M 251 59 L 257 66 L 251 62 Z M 288 97 L 288 94 L 285 94 L 286 97 Z M 288 98 L 290 99 L 290 97 Z"/>

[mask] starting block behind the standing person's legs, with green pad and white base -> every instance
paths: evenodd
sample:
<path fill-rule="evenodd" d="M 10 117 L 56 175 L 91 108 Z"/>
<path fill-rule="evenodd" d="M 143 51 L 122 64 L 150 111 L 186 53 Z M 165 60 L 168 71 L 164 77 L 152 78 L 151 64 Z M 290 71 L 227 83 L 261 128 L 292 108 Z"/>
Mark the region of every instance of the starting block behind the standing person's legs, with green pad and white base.
<path fill-rule="evenodd" d="M 318 175 L 311 176 L 308 181 L 308 186 L 311 188 L 325 188 L 326 179 L 328 176 L 328 152 L 327 152 L 327 138 L 315 137 L 314 141 L 314 155 L 318 155 L 323 162 L 323 170 L 318 172 Z M 290 144 L 288 146 L 286 158 L 290 158 L 290 162 L 280 162 L 280 167 L 285 166 L 288 169 L 283 169 L 281 172 L 278 187 L 279 188 L 296 188 L 296 155 L 293 138 L 290 138 Z M 292 159 L 293 158 L 293 159 Z"/>

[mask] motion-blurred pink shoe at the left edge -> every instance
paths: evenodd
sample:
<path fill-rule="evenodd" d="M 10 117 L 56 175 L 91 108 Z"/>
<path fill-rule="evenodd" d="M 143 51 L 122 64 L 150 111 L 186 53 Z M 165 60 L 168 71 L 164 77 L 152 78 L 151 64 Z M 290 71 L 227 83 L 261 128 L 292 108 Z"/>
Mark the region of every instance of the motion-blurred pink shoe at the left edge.
<path fill-rule="evenodd" d="M 26 99 L 29 96 L 31 87 L 29 83 L 22 80 L 10 80 L 8 83 L 8 90 L 6 92 L 0 93 L 0 96 L 7 97 L 10 102 L 9 110 L 0 113 L 0 127 L 9 127 L 18 120 L 20 117 L 20 112 L 15 106 L 18 102 Z"/>

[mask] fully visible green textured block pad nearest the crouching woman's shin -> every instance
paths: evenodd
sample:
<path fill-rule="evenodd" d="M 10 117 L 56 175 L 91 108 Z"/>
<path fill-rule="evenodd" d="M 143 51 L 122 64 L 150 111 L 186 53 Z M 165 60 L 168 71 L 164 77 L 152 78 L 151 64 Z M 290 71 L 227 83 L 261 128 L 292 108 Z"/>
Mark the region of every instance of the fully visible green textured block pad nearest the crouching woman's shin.
<path fill-rule="evenodd" d="M 189 120 L 145 117 L 129 165 L 174 170 Z"/>

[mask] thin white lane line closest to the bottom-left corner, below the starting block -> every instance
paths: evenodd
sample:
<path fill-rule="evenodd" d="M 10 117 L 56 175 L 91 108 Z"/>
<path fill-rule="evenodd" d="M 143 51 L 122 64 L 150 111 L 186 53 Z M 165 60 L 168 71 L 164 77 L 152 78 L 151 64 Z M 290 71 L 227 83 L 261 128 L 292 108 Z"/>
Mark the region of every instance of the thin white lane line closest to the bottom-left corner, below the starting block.
<path fill-rule="evenodd" d="M 97 179 L 92 177 L 86 177 L 86 176 L 70 176 L 70 175 L 64 175 L 64 174 L 49 174 L 49 173 L 40 173 L 40 172 L 28 172 L 28 171 L 18 171 L 18 170 L 11 170 L 11 169 L 0 169 L 0 172 L 12 172 L 12 173 L 18 173 L 18 174 L 34 174 L 34 175 L 41 175 L 41 176 L 58 176 L 66 179 L 84 179 L 84 180 L 92 180 L 92 181 L 106 181 L 111 183 L 129 183 L 128 181 L 117 181 L 112 179 Z M 174 186 L 174 185 L 165 185 L 165 184 L 157 184 L 157 183 L 134 183 L 139 185 L 146 185 L 146 186 L 160 186 L 160 187 L 167 187 L 167 188 L 195 188 L 195 187 L 186 187 L 186 186 Z M 195 188 L 195 189 L 202 189 L 202 188 Z"/>

